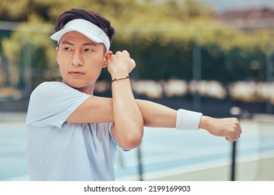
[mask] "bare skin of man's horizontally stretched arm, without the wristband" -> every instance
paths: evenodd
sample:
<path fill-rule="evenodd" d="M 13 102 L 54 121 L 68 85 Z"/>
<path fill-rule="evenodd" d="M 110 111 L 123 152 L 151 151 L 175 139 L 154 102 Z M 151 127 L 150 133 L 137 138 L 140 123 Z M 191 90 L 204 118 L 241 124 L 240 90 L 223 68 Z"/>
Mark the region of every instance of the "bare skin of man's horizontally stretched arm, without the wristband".
<path fill-rule="evenodd" d="M 176 127 L 177 111 L 161 104 L 146 100 L 136 100 L 144 118 L 144 125 L 148 127 Z M 78 114 L 77 114 L 78 113 Z M 75 117 L 79 116 L 79 117 Z M 111 98 L 91 97 L 86 100 L 70 118 L 88 122 L 114 121 Z M 241 126 L 237 118 L 211 118 L 202 116 L 199 127 L 210 134 L 225 137 L 227 141 L 236 141 L 241 137 Z"/>

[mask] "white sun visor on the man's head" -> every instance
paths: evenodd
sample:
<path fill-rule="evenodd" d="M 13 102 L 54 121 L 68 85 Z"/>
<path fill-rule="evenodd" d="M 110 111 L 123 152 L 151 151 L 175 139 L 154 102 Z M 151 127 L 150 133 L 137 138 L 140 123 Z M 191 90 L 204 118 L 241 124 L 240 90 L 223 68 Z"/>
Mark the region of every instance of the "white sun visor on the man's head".
<path fill-rule="evenodd" d="M 60 31 L 57 31 L 52 36 L 50 36 L 50 38 L 59 42 L 61 37 L 70 31 L 77 31 L 94 42 L 104 44 L 107 51 L 109 51 L 110 42 L 107 34 L 95 24 L 83 19 L 71 20 L 65 26 L 63 26 Z"/>

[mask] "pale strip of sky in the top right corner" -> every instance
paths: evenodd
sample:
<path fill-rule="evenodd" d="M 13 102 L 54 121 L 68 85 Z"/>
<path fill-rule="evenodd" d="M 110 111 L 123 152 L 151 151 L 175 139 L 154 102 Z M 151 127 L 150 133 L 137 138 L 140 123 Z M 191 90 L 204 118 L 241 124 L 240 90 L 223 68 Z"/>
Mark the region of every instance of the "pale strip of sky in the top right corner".
<path fill-rule="evenodd" d="M 225 10 L 237 8 L 274 8 L 274 0 L 199 0 L 213 6 L 216 11 L 223 12 Z"/>

